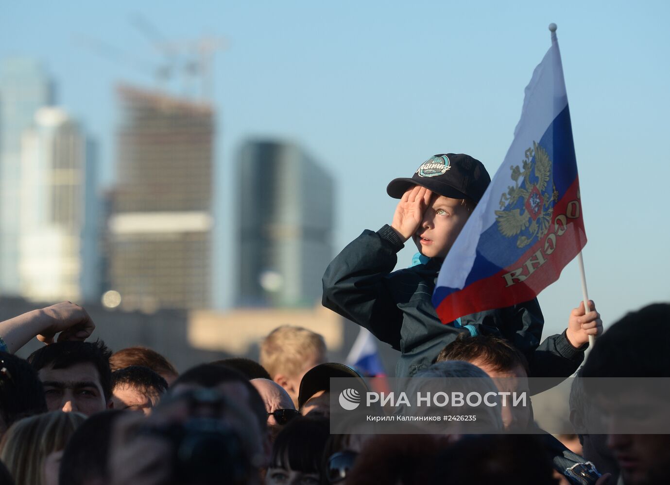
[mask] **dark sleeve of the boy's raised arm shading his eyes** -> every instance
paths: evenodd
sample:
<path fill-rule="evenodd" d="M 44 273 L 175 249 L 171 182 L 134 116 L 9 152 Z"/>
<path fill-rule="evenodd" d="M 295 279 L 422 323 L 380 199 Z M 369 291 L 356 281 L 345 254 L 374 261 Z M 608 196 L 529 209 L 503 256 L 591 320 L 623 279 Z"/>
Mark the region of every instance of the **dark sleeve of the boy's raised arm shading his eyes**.
<path fill-rule="evenodd" d="M 326 268 L 322 303 L 400 349 L 403 314 L 389 289 L 389 275 L 404 244 L 385 225 L 363 231 Z"/>

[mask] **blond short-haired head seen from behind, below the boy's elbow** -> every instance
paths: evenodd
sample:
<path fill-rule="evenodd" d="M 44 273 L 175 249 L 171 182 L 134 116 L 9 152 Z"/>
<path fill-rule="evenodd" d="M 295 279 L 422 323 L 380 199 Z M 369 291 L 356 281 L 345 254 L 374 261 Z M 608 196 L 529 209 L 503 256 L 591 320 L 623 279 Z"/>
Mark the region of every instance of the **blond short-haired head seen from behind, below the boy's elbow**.
<path fill-rule="evenodd" d="M 323 336 L 300 326 L 283 325 L 261 343 L 261 365 L 286 389 L 297 407 L 300 381 L 307 371 L 326 362 Z"/>

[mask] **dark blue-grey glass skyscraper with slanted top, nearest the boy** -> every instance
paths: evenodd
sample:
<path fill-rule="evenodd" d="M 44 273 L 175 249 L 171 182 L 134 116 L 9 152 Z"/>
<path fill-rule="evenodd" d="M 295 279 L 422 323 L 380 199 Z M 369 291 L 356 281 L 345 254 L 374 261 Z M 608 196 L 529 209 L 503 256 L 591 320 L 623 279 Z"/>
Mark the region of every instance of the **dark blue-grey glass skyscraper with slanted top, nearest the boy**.
<path fill-rule="evenodd" d="M 259 140 L 237 183 L 237 305 L 313 306 L 333 256 L 332 177 L 295 144 Z"/>

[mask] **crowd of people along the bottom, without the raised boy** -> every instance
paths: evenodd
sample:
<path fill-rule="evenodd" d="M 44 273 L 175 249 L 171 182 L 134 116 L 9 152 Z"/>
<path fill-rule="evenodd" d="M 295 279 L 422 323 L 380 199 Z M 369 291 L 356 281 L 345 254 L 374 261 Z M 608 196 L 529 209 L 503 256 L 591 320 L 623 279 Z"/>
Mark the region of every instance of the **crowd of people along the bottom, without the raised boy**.
<path fill-rule="evenodd" d="M 38 321 L 36 321 L 38 320 Z M 667 377 L 670 305 L 632 312 L 598 338 L 580 375 Z M 27 331 L 27 329 L 30 331 Z M 330 377 L 356 375 L 328 362 L 324 339 L 280 326 L 260 362 L 232 358 L 179 373 L 143 347 L 113 353 L 87 341 L 85 310 L 60 303 L 0 323 L 0 484 L 663 484 L 665 434 L 588 432 L 588 389 L 570 396 L 579 449 L 533 426 L 527 408 L 494 411 L 498 434 L 330 434 Z M 52 341 L 26 360 L 30 333 Z M 655 338 L 640 338 L 641 335 Z M 525 377 L 519 349 L 496 336 L 456 338 L 417 377 Z M 649 412 L 649 403 L 639 403 Z M 634 413 L 628 409 L 628 413 Z M 659 408 L 664 413 L 663 407 Z"/>

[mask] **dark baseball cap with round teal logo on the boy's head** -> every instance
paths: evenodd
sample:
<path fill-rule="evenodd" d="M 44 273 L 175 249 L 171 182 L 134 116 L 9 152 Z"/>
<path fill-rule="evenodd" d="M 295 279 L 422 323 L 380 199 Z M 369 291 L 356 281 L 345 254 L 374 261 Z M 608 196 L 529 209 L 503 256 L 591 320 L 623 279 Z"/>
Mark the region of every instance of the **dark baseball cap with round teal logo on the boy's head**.
<path fill-rule="evenodd" d="M 402 199 L 407 189 L 421 185 L 445 197 L 477 203 L 490 181 L 484 164 L 470 155 L 439 153 L 423 162 L 411 179 L 393 179 L 386 191 L 394 199 Z"/>

